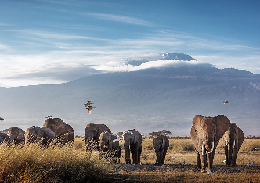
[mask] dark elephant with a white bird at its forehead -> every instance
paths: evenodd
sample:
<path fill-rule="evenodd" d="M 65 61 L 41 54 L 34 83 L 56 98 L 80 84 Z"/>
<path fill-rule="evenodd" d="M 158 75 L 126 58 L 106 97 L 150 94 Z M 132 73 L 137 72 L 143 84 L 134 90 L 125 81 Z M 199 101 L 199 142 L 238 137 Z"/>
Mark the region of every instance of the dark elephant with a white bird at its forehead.
<path fill-rule="evenodd" d="M 142 153 L 142 135 L 139 131 L 128 130 L 123 133 L 124 135 L 124 147 L 125 147 L 125 163 L 130 164 L 130 152 L 132 153 L 132 159 L 134 165 L 140 163 L 140 156 Z"/>

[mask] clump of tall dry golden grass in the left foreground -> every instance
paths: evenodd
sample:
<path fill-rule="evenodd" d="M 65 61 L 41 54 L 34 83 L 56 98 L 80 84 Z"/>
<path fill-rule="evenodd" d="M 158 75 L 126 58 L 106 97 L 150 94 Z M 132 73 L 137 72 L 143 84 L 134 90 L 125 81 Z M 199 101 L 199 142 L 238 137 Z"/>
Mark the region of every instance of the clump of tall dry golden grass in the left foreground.
<path fill-rule="evenodd" d="M 74 147 L 0 145 L 0 182 L 97 182 L 103 180 L 109 169 L 108 159 L 100 159 L 86 151 L 85 145 Z M 76 148 L 75 148 L 76 147 Z"/>

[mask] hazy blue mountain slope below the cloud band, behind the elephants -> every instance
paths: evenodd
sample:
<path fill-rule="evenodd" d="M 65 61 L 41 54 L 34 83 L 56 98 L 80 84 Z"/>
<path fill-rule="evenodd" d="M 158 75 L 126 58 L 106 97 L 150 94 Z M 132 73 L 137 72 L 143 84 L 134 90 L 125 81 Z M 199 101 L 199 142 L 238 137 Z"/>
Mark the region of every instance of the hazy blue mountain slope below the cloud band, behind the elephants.
<path fill-rule="evenodd" d="M 245 134 L 259 135 L 260 75 L 211 64 L 97 74 L 65 84 L 0 88 L 2 129 L 42 126 L 53 115 L 83 135 L 88 123 L 114 132 L 170 130 L 189 135 L 196 114 L 226 115 Z M 85 102 L 92 100 L 89 115 Z M 229 101 L 223 104 L 222 101 Z"/>

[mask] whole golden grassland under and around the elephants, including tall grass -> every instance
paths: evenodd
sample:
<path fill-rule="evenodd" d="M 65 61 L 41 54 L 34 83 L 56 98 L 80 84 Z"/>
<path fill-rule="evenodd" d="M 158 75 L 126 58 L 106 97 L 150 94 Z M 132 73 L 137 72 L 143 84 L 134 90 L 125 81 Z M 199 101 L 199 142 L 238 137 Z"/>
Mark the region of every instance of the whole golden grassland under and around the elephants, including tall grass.
<path fill-rule="evenodd" d="M 26 147 L 0 145 L 0 182 L 260 182 L 260 151 L 255 150 L 260 147 L 258 139 L 244 140 L 237 155 L 237 167 L 227 168 L 221 163 L 225 155 L 218 146 L 213 175 L 196 169 L 191 139 L 169 139 L 164 166 L 153 165 L 156 158 L 153 139 L 143 140 L 142 166 L 118 165 L 109 159 L 99 159 L 98 153 L 86 151 L 81 140 L 75 138 L 73 147 L 42 147 L 38 143 Z M 123 142 L 120 143 L 122 147 Z M 121 155 L 121 163 L 125 163 L 124 150 Z M 248 160 L 255 160 L 255 165 L 252 163 L 248 168 Z"/>

